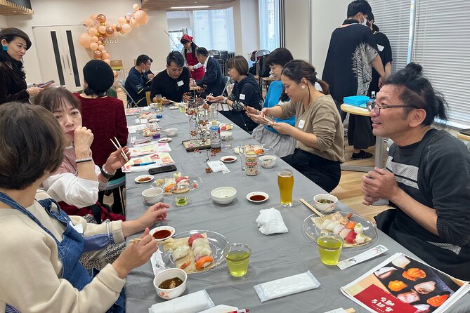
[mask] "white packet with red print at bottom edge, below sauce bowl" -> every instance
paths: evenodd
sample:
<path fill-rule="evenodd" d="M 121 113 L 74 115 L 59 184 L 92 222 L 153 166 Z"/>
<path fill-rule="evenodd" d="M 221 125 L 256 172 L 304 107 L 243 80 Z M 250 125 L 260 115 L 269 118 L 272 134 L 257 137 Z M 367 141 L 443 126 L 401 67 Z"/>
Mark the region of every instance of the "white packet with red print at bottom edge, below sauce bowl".
<path fill-rule="evenodd" d="M 155 303 L 148 309 L 149 313 L 197 313 L 214 307 L 209 293 L 205 289 L 183 295 L 166 302 Z"/>

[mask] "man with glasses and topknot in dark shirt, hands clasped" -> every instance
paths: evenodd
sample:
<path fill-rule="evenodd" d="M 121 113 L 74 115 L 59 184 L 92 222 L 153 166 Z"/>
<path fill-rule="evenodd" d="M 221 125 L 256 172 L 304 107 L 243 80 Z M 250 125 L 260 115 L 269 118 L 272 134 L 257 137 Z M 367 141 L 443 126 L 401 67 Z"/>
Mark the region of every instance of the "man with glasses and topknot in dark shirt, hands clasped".
<path fill-rule="evenodd" d="M 470 280 L 470 154 L 463 142 L 431 127 L 447 104 L 410 63 L 386 79 L 370 104 L 374 135 L 393 140 L 386 169 L 363 177 L 363 204 L 388 199 L 395 209 L 377 227 L 419 258 Z"/>

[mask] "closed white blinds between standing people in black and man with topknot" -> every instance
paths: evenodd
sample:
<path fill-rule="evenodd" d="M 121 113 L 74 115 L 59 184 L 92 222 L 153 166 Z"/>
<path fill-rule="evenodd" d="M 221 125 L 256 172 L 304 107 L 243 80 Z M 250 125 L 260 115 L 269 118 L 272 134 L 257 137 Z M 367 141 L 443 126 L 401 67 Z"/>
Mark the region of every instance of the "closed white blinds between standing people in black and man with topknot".
<path fill-rule="evenodd" d="M 411 0 L 370 0 L 374 23 L 386 34 L 392 49 L 392 73 L 407 65 Z"/>

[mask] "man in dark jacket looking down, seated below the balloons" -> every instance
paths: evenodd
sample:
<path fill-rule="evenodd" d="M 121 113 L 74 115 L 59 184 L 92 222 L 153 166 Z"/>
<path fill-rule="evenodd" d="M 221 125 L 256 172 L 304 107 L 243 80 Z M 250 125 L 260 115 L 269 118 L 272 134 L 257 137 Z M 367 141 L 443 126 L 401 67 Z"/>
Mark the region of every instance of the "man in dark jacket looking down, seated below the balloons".
<path fill-rule="evenodd" d="M 138 107 L 145 107 L 147 105 L 145 93 L 150 91 L 150 87 L 147 86 L 146 81 L 143 79 L 143 73 L 148 72 L 151 64 L 152 61 L 148 55 L 139 55 L 136 60 L 136 66 L 131 68 L 126 79 L 126 91 L 131 95 Z M 127 101 L 129 102 L 129 97 Z"/>

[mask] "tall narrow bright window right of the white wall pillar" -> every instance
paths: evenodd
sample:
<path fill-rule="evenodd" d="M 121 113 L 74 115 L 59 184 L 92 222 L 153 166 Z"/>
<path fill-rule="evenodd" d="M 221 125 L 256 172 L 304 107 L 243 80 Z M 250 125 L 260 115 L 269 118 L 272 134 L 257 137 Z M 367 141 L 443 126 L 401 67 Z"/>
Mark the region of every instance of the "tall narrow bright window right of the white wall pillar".
<path fill-rule="evenodd" d="M 259 31 L 261 49 L 280 46 L 279 0 L 259 0 Z"/>

